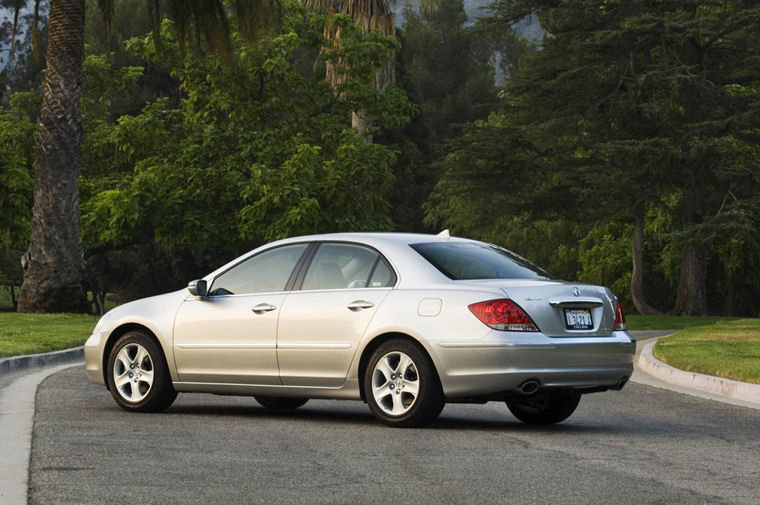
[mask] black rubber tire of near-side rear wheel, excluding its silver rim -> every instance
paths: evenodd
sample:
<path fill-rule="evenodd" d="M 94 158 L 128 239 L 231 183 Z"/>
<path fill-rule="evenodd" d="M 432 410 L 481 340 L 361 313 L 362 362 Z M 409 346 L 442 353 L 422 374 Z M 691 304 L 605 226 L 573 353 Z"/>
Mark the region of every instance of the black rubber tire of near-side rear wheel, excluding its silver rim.
<path fill-rule="evenodd" d="M 394 351 L 406 354 L 414 362 L 420 382 L 414 404 L 400 416 L 386 414 L 375 401 L 372 392 L 372 375 L 375 366 L 386 354 Z M 372 353 L 364 371 L 364 398 L 376 419 L 396 427 L 423 426 L 438 417 L 445 403 L 438 372 L 432 361 L 418 345 L 404 339 L 389 340 Z"/>

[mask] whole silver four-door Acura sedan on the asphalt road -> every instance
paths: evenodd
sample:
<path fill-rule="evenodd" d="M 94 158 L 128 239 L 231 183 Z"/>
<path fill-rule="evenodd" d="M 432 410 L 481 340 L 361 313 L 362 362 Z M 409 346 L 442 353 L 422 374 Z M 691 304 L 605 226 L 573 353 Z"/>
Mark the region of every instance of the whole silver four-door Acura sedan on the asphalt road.
<path fill-rule="evenodd" d="M 178 392 L 275 410 L 339 398 L 421 426 L 446 402 L 563 421 L 582 395 L 621 389 L 634 351 L 607 288 L 448 232 L 338 233 L 273 242 L 187 289 L 121 305 L 85 359 L 128 411 L 161 411 Z"/>

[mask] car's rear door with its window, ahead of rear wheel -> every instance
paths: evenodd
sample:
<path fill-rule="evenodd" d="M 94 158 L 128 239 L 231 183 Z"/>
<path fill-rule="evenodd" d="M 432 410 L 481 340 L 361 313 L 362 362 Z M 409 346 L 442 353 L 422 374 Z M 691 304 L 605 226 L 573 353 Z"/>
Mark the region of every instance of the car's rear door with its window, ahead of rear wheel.
<path fill-rule="evenodd" d="M 301 277 L 300 290 L 288 295 L 280 313 L 280 379 L 292 386 L 340 386 L 396 276 L 374 249 L 327 242 Z"/>

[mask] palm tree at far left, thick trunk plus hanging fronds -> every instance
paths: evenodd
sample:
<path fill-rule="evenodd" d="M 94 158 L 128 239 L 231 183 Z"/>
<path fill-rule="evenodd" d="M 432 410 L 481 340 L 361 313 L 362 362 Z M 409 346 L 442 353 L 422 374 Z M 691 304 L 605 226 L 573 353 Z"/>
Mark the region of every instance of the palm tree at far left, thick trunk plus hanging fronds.
<path fill-rule="evenodd" d="M 214 51 L 232 49 L 227 12 L 222 0 L 172 0 L 180 46 L 185 40 Z M 230 2 L 243 35 L 252 36 L 278 11 L 278 0 Z M 16 3 L 16 9 L 21 2 Z M 39 0 L 35 0 L 35 13 Z M 101 0 L 107 37 L 113 25 L 113 0 Z M 158 42 L 159 0 L 149 0 Z M 258 14 L 258 15 L 257 15 Z M 35 143 L 38 168 L 34 188 L 29 248 L 21 258 L 24 282 L 19 312 L 85 312 L 85 261 L 79 236 L 79 149 L 82 118 L 79 95 L 84 57 L 84 0 L 50 0 L 47 70 Z M 33 21 L 33 30 L 37 20 Z M 34 40 L 34 36 L 33 36 Z"/>

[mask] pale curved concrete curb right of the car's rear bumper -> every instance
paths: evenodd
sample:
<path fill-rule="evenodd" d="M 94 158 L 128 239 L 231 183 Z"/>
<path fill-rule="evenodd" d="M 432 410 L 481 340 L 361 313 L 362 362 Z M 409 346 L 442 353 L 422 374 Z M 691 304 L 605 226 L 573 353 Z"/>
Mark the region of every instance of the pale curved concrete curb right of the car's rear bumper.
<path fill-rule="evenodd" d="M 638 367 L 649 375 L 675 386 L 760 405 L 760 384 L 749 384 L 672 367 L 654 357 L 656 341 L 655 339 L 644 344 L 637 363 Z"/>

